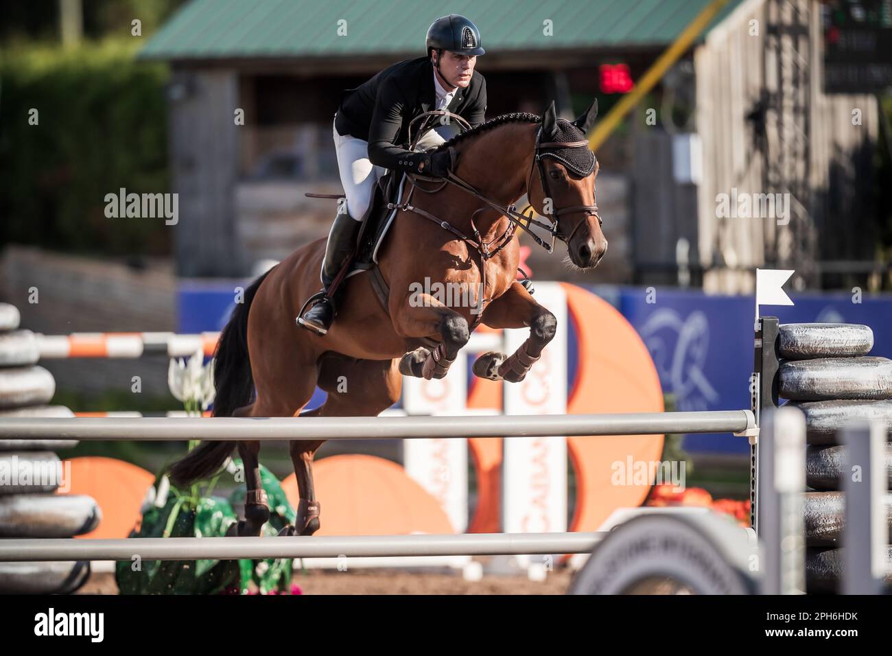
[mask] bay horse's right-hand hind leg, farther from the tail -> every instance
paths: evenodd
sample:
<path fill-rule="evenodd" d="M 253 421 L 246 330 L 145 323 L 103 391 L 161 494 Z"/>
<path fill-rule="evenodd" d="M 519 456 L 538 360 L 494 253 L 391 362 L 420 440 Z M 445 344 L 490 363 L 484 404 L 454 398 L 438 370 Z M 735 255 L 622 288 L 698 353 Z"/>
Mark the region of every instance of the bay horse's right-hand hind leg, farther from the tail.
<path fill-rule="evenodd" d="M 326 403 L 301 417 L 375 417 L 400 399 L 402 377 L 395 360 L 354 360 L 339 355 L 321 362 L 318 386 Z M 280 535 L 311 536 L 319 529 L 319 502 L 313 489 L 313 456 L 320 441 L 291 443 L 291 459 L 300 501 L 294 527 Z"/>

